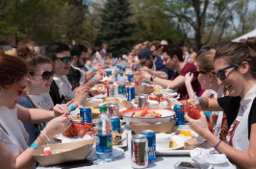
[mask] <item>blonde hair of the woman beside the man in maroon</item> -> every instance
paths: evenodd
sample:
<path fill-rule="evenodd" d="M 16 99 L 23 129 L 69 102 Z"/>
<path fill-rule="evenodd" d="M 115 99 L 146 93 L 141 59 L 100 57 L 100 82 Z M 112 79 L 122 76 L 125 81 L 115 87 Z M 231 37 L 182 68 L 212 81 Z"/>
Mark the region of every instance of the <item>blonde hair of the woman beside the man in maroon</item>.
<path fill-rule="evenodd" d="M 196 58 L 196 65 L 199 70 L 205 73 L 215 73 L 214 58 L 215 51 L 204 52 Z"/>

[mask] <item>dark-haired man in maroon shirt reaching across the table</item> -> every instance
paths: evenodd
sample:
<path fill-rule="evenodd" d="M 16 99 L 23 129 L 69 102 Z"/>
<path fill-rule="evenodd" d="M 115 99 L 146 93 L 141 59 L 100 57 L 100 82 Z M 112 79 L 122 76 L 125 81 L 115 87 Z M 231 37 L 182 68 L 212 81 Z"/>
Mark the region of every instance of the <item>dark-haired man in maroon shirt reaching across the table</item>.
<path fill-rule="evenodd" d="M 183 51 L 177 45 L 168 45 L 163 49 L 164 64 L 168 70 L 174 69 L 176 72 L 170 80 L 165 80 L 154 75 L 143 71 L 141 73 L 142 81 L 149 80 L 150 84 L 159 84 L 163 87 L 169 87 L 170 89 L 178 88 L 180 93 L 180 99 L 186 99 L 188 91 L 185 85 L 185 75 L 188 72 L 194 72 L 196 66 L 193 63 L 186 63 L 183 58 Z M 196 92 L 197 96 L 201 96 L 204 90 L 201 89 L 201 85 L 193 76 L 192 79 L 192 88 Z"/>

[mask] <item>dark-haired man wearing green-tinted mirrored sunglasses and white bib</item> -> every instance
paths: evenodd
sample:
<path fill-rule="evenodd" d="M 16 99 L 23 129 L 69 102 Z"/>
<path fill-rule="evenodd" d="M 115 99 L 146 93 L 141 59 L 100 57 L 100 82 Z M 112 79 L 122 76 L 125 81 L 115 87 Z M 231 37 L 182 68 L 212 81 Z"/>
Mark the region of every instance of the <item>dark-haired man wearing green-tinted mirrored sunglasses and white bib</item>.
<path fill-rule="evenodd" d="M 79 99 L 79 103 L 72 103 L 71 110 L 81 105 L 88 97 L 89 87 L 81 86 L 79 90 L 72 91 L 72 85 L 68 82 L 66 75 L 69 72 L 73 57 L 70 56 L 70 48 L 68 45 L 60 42 L 52 42 L 45 48 L 44 55 L 53 62 L 53 82 L 50 87 L 50 95 L 54 105 L 65 104 L 76 97 L 84 97 Z M 100 75 L 99 75 L 100 76 Z M 91 82 L 95 81 L 93 79 Z"/>

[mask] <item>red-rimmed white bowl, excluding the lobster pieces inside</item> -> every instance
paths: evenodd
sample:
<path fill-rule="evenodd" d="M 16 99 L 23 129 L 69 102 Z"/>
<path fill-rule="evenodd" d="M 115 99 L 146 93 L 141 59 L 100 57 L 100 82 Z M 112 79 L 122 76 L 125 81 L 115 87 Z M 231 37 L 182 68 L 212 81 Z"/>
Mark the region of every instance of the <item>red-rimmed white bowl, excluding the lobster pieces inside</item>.
<path fill-rule="evenodd" d="M 157 118 L 138 118 L 131 117 L 133 112 L 142 112 L 144 110 L 155 111 L 156 113 L 161 113 L 162 117 Z M 129 126 L 130 122 L 140 122 L 140 123 L 148 123 L 148 124 L 156 124 L 156 123 L 165 123 L 174 119 L 175 112 L 171 109 L 126 109 L 119 112 L 120 115 L 123 116 L 126 124 Z"/>

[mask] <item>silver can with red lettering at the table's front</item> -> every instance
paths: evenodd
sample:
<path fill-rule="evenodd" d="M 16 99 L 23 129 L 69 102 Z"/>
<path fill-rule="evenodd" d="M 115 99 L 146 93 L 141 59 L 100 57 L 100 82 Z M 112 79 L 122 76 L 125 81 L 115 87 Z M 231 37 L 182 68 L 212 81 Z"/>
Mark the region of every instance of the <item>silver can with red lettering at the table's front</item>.
<path fill-rule="evenodd" d="M 146 168 L 148 165 L 148 142 L 143 134 L 135 134 L 132 139 L 131 156 L 133 168 Z"/>

